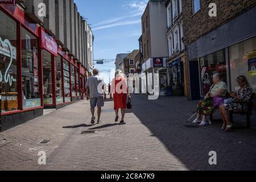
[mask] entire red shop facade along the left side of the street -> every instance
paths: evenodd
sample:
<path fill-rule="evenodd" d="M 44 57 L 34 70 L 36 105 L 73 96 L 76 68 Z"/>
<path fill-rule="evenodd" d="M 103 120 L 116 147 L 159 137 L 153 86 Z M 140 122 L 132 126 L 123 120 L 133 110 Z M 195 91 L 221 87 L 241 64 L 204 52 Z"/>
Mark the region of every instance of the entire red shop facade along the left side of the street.
<path fill-rule="evenodd" d="M 0 131 L 84 99 L 80 63 L 19 7 L 0 5 L 0 17 Z"/>

